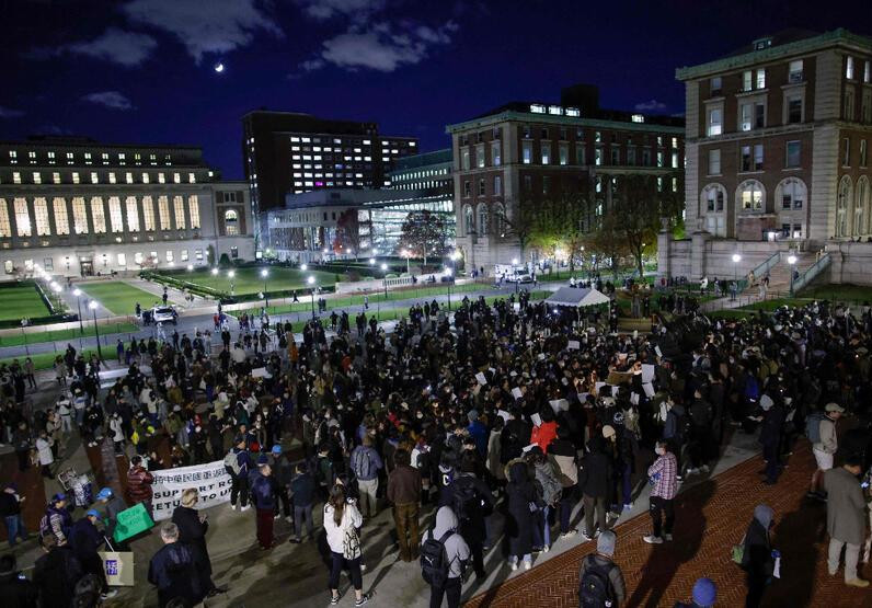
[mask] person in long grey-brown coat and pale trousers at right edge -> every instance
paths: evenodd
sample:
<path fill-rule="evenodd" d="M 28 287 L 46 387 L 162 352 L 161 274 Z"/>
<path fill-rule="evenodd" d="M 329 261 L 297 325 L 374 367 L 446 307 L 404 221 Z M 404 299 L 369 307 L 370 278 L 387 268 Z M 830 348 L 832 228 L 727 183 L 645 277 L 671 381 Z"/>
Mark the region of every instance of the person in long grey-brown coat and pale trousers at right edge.
<path fill-rule="evenodd" d="M 869 581 L 857 575 L 860 546 L 867 536 L 867 502 L 858 477 L 862 472 L 860 459 L 850 457 L 838 469 L 824 472 L 824 490 L 827 493 L 827 532 L 829 550 L 827 566 L 830 576 L 839 569 L 841 550 L 845 548 L 845 584 L 865 588 Z"/>

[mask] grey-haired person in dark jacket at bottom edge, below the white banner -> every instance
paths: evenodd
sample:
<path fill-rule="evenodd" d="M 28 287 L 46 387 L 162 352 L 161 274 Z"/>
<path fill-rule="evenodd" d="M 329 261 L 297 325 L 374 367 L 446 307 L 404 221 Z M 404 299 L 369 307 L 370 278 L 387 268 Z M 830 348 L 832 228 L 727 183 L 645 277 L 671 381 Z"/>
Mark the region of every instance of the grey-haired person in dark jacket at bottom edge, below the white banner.
<path fill-rule="evenodd" d="M 163 547 L 148 564 L 148 582 L 158 587 L 158 605 L 165 608 L 177 600 L 183 600 L 184 606 L 199 604 L 206 594 L 197 575 L 193 551 L 179 542 L 175 524 L 164 524 L 160 537 Z"/>

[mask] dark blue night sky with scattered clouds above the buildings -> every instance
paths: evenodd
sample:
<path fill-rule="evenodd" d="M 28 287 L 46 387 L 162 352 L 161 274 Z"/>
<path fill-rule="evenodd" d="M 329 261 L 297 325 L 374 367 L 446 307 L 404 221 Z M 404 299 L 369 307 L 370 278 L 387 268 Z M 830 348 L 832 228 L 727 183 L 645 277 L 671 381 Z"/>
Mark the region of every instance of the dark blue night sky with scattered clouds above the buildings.
<path fill-rule="evenodd" d="M 590 82 L 606 107 L 684 112 L 675 68 L 787 27 L 872 35 L 870 2 L 0 0 L 0 139 L 202 146 L 242 176 L 242 114 L 445 125 Z M 215 71 L 217 62 L 225 70 Z"/>

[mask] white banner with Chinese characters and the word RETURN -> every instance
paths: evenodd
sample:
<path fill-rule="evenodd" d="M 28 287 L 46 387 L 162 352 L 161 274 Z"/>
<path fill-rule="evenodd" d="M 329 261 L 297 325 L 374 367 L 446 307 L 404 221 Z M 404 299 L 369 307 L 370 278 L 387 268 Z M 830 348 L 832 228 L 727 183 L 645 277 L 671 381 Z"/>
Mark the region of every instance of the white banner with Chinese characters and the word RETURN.
<path fill-rule="evenodd" d="M 209 508 L 230 501 L 232 482 L 225 469 L 223 460 L 151 471 L 151 474 L 154 475 L 154 483 L 151 486 L 154 492 L 151 500 L 154 521 L 172 517 L 173 509 L 181 504 L 182 491 L 187 487 L 197 489 L 199 494 L 197 509 Z"/>

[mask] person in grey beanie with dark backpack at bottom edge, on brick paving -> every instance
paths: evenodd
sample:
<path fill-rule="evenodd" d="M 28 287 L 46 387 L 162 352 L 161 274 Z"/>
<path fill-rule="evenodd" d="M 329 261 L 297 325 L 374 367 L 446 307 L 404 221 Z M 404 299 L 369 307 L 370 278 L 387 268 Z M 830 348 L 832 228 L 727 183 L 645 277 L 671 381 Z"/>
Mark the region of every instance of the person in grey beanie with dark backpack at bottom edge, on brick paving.
<path fill-rule="evenodd" d="M 612 561 L 617 537 L 611 530 L 600 532 L 596 552 L 582 560 L 578 573 L 578 606 L 582 608 L 620 608 L 627 598 L 621 569 Z"/>

